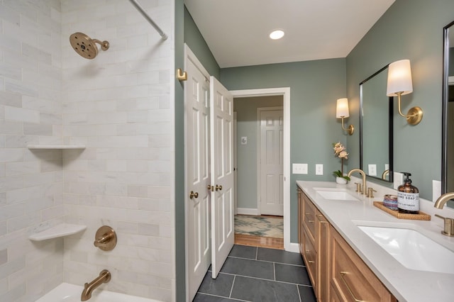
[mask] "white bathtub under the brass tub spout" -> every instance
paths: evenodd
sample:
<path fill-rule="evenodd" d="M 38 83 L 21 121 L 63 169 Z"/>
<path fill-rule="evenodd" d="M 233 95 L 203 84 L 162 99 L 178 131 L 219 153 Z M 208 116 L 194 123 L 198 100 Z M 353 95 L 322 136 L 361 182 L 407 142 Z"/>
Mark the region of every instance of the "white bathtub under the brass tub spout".
<path fill-rule="evenodd" d="M 39 298 L 35 302 L 80 302 L 80 294 L 84 289 L 83 286 L 62 283 Z M 153 299 L 130 296 L 124 293 L 114 293 L 114 291 L 104 291 L 95 289 L 92 292 L 92 298 L 87 302 L 160 302 Z"/>

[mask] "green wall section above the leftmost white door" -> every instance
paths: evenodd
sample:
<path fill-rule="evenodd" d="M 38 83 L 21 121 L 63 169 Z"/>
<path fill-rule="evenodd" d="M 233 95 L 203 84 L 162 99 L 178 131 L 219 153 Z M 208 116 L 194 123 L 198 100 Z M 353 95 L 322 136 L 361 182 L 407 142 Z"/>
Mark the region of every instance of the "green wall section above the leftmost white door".
<path fill-rule="evenodd" d="M 211 50 L 206 45 L 204 37 L 202 37 L 199 28 L 197 28 L 194 19 L 184 6 L 184 43 L 191 48 L 197 59 L 204 65 L 207 72 L 216 79 L 219 79 L 219 65 L 214 59 Z"/>

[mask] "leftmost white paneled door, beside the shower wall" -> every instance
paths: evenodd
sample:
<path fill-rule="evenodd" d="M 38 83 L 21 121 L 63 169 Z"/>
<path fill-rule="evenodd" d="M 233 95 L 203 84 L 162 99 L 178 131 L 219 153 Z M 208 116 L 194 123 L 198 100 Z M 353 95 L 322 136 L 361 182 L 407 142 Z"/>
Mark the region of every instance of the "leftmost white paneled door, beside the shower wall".
<path fill-rule="evenodd" d="M 211 263 L 209 171 L 209 80 L 192 54 L 185 55 L 184 83 L 187 296 L 194 298 Z M 205 75 L 205 74 L 206 75 Z M 191 194 L 192 192 L 192 194 Z"/>

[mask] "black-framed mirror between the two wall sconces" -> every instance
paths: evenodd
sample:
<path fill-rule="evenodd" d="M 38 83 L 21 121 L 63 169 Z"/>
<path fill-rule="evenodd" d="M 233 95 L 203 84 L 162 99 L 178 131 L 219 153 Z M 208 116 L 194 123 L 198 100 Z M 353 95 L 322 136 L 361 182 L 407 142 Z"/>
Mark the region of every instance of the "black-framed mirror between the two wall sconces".
<path fill-rule="evenodd" d="M 388 65 L 360 83 L 360 169 L 392 182 L 392 97 L 386 96 Z"/>

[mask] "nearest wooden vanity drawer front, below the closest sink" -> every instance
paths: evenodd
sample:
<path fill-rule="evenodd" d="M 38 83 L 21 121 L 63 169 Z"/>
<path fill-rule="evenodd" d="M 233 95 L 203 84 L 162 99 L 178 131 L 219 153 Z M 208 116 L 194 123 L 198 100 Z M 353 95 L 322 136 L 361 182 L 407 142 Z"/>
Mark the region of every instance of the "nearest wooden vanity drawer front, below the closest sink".
<path fill-rule="evenodd" d="M 396 301 L 333 227 L 331 238 L 331 286 L 341 301 Z"/>

